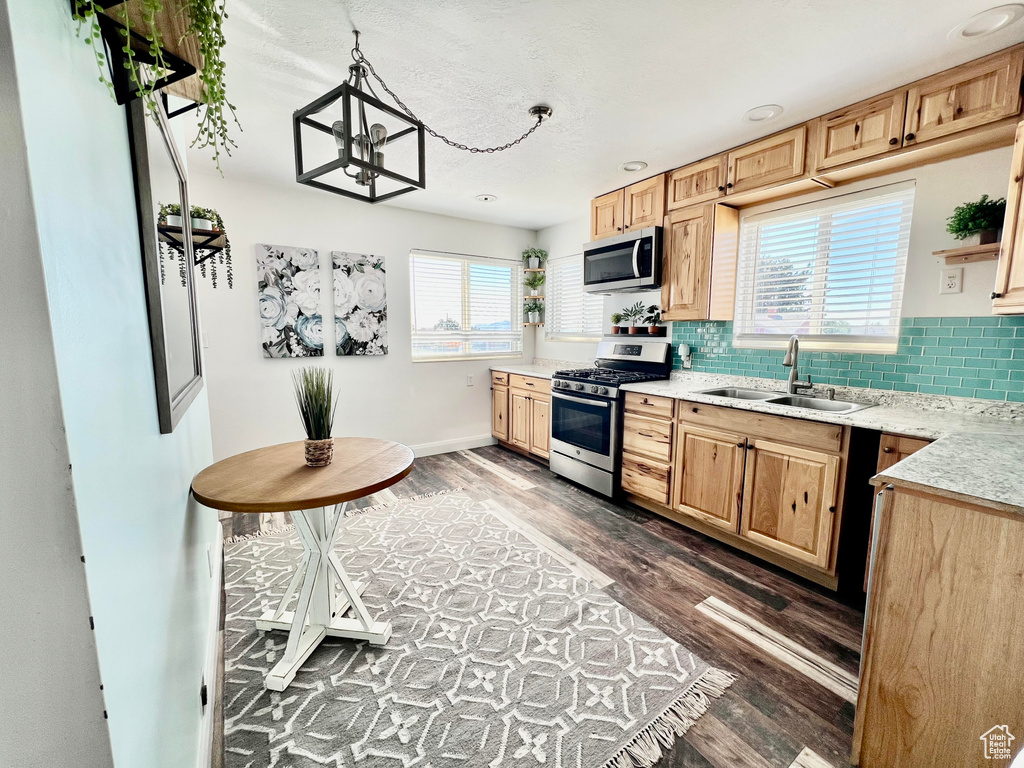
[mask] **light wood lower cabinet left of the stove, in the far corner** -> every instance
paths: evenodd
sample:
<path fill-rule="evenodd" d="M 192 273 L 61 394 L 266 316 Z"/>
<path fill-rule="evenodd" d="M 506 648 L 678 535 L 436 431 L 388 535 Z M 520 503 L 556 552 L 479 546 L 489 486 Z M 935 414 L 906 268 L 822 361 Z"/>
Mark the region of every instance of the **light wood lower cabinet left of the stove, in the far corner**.
<path fill-rule="evenodd" d="M 519 374 L 492 374 L 490 434 L 542 459 L 551 447 L 551 382 Z"/>

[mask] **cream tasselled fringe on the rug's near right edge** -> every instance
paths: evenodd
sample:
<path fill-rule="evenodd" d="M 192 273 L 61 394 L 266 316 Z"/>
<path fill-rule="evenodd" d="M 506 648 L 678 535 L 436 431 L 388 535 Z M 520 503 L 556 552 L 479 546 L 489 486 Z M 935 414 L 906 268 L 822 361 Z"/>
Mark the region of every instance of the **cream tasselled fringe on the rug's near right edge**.
<path fill-rule="evenodd" d="M 672 749 L 677 736 L 682 736 L 711 706 L 712 698 L 721 696 L 735 681 L 735 675 L 709 667 L 650 725 L 617 752 L 604 768 L 651 768 L 662 759 L 663 749 Z"/>

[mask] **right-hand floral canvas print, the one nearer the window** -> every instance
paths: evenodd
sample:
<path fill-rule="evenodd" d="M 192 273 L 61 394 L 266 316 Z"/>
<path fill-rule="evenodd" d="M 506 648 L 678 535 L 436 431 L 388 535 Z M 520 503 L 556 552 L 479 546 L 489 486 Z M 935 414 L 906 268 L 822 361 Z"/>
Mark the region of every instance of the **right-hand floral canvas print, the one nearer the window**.
<path fill-rule="evenodd" d="M 333 251 L 338 354 L 387 354 L 384 257 Z"/>

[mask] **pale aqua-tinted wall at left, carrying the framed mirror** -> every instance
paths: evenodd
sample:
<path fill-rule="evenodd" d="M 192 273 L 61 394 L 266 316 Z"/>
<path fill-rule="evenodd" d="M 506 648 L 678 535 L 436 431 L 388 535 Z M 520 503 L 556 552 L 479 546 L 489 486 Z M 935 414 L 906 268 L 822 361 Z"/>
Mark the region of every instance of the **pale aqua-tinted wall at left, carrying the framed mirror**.
<path fill-rule="evenodd" d="M 125 111 L 97 82 L 66 0 L 7 2 L 114 762 L 191 766 L 219 591 L 207 564 L 216 514 L 186 508 L 212 460 L 206 392 L 160 434 Z"/>

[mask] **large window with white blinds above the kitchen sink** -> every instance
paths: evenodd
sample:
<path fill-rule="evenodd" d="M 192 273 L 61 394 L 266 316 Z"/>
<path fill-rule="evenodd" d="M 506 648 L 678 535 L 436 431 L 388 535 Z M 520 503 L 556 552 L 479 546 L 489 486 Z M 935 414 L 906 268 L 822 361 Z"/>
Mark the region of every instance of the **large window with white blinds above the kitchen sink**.
<path fill-rule="evenodd" d="M 744 217 L 733 344 L 894 350 L 913 182 Z"/>

